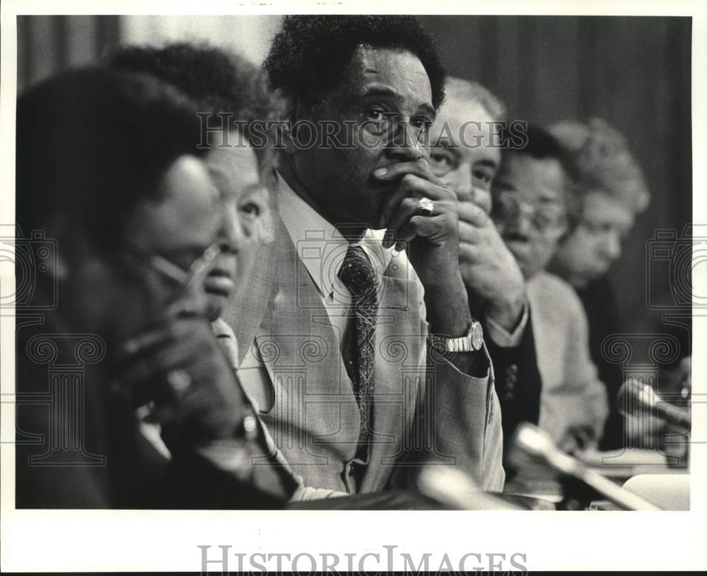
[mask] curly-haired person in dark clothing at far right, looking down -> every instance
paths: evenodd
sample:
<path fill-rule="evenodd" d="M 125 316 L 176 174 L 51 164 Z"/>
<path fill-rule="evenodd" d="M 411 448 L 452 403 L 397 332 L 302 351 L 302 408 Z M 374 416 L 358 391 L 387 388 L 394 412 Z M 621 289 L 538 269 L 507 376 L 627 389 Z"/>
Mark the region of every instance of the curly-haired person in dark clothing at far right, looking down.
<path fill-rule="evenodd" d="M 604 338 L 622 331 L 607 272 L 621 257 L 621 244 L 636 215 L 648 205 L 648 187 L 626 138 L 604 120 L 558 122 L 550 131 L 577 174 L 575 190 L 580 206 L 578 222 L 560 241 L 549 270 L 572 285 L 589 319 L 592 361 L 609 396 L 609 417 L 600 448 L 621 448 L 625 430 L 616 398 L 624 375 L 619 364 L 607 362 L 602 354 Z"/>

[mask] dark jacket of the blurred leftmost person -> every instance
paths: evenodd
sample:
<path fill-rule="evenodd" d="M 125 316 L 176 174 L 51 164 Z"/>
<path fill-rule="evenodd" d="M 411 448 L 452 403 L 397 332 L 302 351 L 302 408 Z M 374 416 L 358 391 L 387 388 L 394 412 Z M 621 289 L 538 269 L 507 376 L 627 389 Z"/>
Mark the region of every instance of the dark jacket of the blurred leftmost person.
<path fill-rule="evenodd" d="M 251 484 L 196 451 L 165 459 L 111 392 L 105 341 L 57 311 L 18 316 L 16 355 L 18 508 L 270 508 L 295 488 L 271 473 Z"/>

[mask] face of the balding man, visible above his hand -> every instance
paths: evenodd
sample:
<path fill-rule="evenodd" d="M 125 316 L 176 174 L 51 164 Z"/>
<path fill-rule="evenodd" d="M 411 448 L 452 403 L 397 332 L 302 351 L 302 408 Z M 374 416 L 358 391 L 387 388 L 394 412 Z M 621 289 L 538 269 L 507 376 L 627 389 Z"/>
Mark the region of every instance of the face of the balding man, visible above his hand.
<path fill-rule="evenodd" d="M 491 212 L 491 183 L 501 163 L 493 118 L 478 102 L 448 97 L 430 131 L 430 168 L 457 193 Z"/>

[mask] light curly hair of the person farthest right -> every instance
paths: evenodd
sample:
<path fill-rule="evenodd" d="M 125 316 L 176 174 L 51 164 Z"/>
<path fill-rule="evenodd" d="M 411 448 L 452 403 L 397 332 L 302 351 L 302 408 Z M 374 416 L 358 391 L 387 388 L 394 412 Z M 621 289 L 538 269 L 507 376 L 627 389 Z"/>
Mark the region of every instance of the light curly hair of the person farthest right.
<path fill-rule="evenodd" d="M 549 130 L 571 157 L 580 197 L 600 190 L 633 212 L 642 212 L 650 202 L 643 171 L 631 154 L 629 143 L 609 122 L 590 118 L 587 122 L 557 122 Z"/>

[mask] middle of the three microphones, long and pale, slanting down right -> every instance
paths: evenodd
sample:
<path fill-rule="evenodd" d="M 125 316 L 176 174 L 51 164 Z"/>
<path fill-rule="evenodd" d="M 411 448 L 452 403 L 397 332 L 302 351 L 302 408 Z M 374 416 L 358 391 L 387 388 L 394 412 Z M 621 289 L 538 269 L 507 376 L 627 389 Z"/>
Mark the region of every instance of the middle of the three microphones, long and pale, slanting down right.
<path fill-rule="evenodd" d="M 529 422 L 521 422 L 515 430 L 508 459 L 513 465 L 522 467 L 527 463 L 527 456 L 544 463 L 561 478 L 568 480 L 565 482 L 566 487 L 573 485 L 580 493 L 598 494 L 624 510 L 660 510 L 561 451 L 544 430 Z"/>

